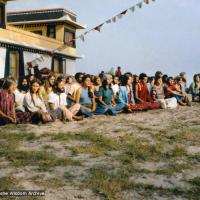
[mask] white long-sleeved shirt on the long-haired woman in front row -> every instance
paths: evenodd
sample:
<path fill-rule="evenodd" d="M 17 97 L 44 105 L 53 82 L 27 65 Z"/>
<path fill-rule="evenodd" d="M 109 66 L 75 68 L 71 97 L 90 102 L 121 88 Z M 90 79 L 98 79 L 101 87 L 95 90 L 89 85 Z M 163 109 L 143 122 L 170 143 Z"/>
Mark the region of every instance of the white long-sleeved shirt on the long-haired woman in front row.
<path fill-rule="evenodd" d="M 28 92 L 24 97 L 23 104 L 30 112 L 37 112 L 39 110 L 42 110 L 43 112 L 47 112 L 45 103 L 41 98 L 39 98 L 38 96 L 37 97 L 34 96 L 33 100 L 32 100 L 30 92 Z"/>

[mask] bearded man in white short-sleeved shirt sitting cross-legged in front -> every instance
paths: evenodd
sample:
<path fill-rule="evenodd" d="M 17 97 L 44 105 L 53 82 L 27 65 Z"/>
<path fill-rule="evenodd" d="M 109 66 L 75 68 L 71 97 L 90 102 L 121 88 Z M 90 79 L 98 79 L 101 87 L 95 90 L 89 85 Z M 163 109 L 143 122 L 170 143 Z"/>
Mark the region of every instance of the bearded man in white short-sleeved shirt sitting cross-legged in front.
<path fill-rule="evenodd" d="M 65 94 L 65 83 L 62 79 L 58 79 L 55 83 L 55 89 L 48 96 L 50 113 L 53 119 L 66 121 L 82 120 L 76 114 L 80 110 L 80 104 L 74 104 L 69 107 L 67 105 L 67 95 Z"/>

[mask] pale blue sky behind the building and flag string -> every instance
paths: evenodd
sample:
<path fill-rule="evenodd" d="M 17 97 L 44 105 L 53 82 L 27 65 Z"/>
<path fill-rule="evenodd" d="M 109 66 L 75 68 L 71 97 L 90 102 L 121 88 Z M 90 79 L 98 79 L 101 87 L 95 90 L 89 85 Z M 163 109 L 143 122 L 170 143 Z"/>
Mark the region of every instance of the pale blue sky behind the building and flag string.
<path fill-rule="evenodd" d="M 16 0 L 8 11 L 66 8 L 78 15 L 78 22 L 93 28 L 142 0 Z M 150 0 L 151 1 L 151 0 Z M 156 70 L 191 77 L 200 72 L 200 0 L 156 0 L 131 11 L 102 32 L 92 32 L 83 43 L 77 41 L 77 71 L 98 73 L 121 66 L 123 72 Z M 77 35 L 79 35 L 79 32 Z"/>

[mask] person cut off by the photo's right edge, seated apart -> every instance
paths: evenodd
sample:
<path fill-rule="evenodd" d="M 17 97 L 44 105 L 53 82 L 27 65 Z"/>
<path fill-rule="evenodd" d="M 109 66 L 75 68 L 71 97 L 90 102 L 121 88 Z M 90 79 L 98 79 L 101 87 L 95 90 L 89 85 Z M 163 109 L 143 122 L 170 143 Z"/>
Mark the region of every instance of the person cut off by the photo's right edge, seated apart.
<path fill-rule="evenodd" d="M 200 102 L 200 76 L 195 74 L 193 80 L 194 82 L 189 87 L 189 93 L 192 95 L 193 101 Z"/>

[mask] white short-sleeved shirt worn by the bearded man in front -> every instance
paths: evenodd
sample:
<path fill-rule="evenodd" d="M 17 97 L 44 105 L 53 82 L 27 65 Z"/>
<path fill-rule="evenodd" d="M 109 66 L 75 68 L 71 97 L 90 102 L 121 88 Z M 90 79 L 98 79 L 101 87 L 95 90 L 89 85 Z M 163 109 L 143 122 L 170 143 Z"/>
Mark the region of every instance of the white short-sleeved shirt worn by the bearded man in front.
<path fill-rule="evenodd" d="M 51 92 L 48 96 L 48 103 L 54 104 L 55 109 L 61 106 L 67 106 L 67 95 L 65 93 L 58 95 L 54 92 Z"/>

